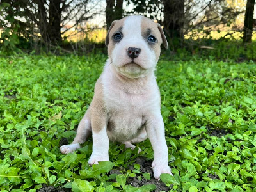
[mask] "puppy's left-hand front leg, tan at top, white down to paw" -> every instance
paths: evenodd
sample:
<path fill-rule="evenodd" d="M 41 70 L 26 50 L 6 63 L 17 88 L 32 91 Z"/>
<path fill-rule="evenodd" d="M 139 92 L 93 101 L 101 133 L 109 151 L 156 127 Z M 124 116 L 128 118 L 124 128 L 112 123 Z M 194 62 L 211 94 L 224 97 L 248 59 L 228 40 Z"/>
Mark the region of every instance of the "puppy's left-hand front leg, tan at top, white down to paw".
<path fill-rule="evenodd" d="M 109 161 L 109 139 L 107 135 L 106 117 L 92 116 L 92 155 L 88 161 L 90 165 L 99 161 Z"/>

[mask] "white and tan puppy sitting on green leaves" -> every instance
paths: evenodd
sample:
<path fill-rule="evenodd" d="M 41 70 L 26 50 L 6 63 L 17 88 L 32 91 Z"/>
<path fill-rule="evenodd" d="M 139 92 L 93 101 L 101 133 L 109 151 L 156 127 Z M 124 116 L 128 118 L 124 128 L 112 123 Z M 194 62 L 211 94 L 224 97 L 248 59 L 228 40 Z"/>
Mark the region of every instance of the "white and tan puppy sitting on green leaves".
<path fill-rule="evenodd" d="M 148 137 L 154 150 L 154 177 L 172 174 L 154 75 L 161 44 L 167 49 L 163 29 L 146 17 L 129 16 L 112 22 L 106 36 L 109 58 L 76 138 L 71 145 L 60 147 L 63 154 L 80 148 L 92 132 L 93 152 L 88 161 L 92 165 L 109 161 L 109 140 L 134 149 L 132 143 Z"/>

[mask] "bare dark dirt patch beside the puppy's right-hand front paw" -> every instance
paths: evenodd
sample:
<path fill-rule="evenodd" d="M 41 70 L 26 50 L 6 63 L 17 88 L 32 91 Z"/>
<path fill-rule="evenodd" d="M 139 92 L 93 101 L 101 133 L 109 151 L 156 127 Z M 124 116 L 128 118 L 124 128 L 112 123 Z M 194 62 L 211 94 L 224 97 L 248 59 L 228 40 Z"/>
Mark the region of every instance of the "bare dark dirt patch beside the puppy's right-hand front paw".
<path fill-rule="evenodd" d="M 147 184 L 154 184 L 154 185 L 156 185 L 156 190 L 155 190 L 156 192 L 170 191 L 170 188 L 167 187 L 163 182 L 161 182 L 160 180 L 158 181 L 158 180 L 154 179 L 154 173 L 151 168 L 151 164 L 152 164 L 151 161 L 147 161 L 144 157 L 138 157 L 136 159 L 136 161 L 134 162 L 134 164 L 140 164 L 141 175 L 142 175 L 142 173 L 150 173 L 151 178 L 150 178 L 150 180 L 147 180 L 145 178 L 139 180 L 138 177 L 133 177 L 133 178 L 130 177 L 127 180 L 127 184 L 131 184 L 131 186 L 133 186 L 133 187 L 141 187 L 141 186 L 144 186 Z M 130 166 L 130 169 L 133 170 L 134 167 Z"/>

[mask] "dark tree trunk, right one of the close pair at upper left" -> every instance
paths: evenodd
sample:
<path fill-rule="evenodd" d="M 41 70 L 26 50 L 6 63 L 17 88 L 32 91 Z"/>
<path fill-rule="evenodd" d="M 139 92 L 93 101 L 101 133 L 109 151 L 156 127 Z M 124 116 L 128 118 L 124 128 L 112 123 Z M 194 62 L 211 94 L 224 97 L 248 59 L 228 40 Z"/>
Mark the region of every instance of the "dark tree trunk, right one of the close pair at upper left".
<path fill-rule="evenodd" d="M 53 45 L 61 44 L 61 0 L 50 0 L 49 3 L 49 38 Z"/>

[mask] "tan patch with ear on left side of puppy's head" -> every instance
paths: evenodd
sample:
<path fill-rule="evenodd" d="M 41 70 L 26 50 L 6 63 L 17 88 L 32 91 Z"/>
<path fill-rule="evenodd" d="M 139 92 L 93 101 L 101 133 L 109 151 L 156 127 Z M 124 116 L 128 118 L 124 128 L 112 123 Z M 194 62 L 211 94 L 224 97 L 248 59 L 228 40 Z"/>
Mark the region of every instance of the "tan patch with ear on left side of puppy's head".
<path fill-rule="evenodd" d="M 109 27 L 107 36 L 106 36 L 106 41 L 105 44 L 106 46 L 108 46 L 108 55 L 111 56 L 111 52 L 113 51 L 114 47 L 115 47 L 115 42 L 113 41 L 112 36 L 116 33 L 116 32 L 122 32 L 122 27 L 124 26 L 124 19 L 120 19 L 120 20 L 115 20 L 112 22 L 111 26 Z"/>

